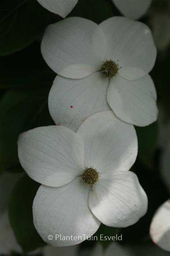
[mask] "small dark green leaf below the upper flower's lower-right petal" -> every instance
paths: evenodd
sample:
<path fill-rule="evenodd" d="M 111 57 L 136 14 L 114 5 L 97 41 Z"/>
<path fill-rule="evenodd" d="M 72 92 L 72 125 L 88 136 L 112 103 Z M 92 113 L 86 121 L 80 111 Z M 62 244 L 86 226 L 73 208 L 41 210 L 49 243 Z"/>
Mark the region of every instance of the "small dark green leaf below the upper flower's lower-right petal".
<path fill-rule="evenodd" d="M 138 156 L 147 167 L 152 168 L 152 160 L 157 146 L 157 123 L 146 127 L 135 127 L 138 137 Z"/>

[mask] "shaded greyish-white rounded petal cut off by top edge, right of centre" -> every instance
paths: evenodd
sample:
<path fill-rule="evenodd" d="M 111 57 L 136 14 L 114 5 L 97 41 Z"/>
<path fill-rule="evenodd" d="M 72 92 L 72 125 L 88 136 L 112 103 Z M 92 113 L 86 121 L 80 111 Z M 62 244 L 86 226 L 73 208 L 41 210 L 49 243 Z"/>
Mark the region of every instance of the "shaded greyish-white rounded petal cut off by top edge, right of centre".
<path fill-rule="evenodd" d="M 131 19 L 140 19 L 149 9 L 152 0 L 112 0 L 119 11 Z"/>

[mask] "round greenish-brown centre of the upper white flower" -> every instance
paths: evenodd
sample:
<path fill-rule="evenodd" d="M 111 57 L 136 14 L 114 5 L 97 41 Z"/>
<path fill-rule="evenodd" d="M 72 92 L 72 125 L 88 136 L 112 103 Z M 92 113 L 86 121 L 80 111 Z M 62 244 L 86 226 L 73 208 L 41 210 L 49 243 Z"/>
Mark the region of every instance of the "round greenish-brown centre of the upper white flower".
<path fill-rule="evenodd" d="M 106 60 L 103 63 L 100 71 L 105 77 L 112 78 L 113 76 L 116 76 L 118 74 L 119 69 L 119 64 L 110 59 L 109 61 Z"/>

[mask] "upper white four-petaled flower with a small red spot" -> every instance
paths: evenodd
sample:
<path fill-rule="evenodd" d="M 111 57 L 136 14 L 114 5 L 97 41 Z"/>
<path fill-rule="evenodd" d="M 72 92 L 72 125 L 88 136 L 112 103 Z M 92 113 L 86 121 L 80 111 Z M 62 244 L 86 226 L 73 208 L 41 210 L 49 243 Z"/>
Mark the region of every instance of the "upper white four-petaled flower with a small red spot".
<path fill-rule="evenodd" d="M 148 75 L 156 48 L 145 24 L 113 17 L 97 25 L 71 17 L 48 26 L 41 50 L 58 73 L 48 101 L 56 124 L 76 131 L 88 116 L 110 107 L 138 126 L 157 119 L 156 91 Z"/>

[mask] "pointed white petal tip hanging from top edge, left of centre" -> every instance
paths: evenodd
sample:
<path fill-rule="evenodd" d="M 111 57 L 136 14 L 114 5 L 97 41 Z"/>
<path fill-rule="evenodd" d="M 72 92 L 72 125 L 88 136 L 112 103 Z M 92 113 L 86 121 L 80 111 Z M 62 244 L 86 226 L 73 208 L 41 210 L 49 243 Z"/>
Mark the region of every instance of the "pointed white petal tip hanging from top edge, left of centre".
<path fill-rule="evenodd" d="M 77 4 L 78 0 L 37 0 L 44 8 L 65 18 Z"/>

